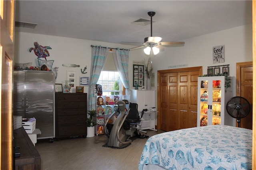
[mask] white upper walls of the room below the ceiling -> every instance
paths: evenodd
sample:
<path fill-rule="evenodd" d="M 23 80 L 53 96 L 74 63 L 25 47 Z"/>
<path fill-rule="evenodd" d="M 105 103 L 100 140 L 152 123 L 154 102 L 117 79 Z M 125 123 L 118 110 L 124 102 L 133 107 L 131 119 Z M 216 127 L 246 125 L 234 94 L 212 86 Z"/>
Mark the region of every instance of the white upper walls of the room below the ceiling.
<path fill-rule="evenodd" d="M 15 63 L 33 62 L 32 66 L 37 64 L 37 56 L 29 52 L 30 47 L 34 47 L 34 41 L 40 45 L 52 47 L 48 50 L 50 57 L 47 60 L 54 60 L 53 67 L 59 67 L 56 83 L 66 80 L 67 71 L 76 72 L 76 86 L 79 85 L 80 76 L 90 76 L 91 47 L 90 45 L 102 45 L 112 48 L 130 48 L 132 46 L 106 43 L 100 41 L 88 41 L 83 39 L 72 39 L 66 37 L 56 37 L 50 35 L 39 35 L 32 33 L 15 33 Z M 165 40 L 164 41 L 171 41 Z M 170 69 L 169 66 L 187 64 L 186 67 L 203 66 L 203 74 L 207 74 L 207 66 L 217 66 L 230 64 L 230 76 L 236 76 L 236 63 L 252 61 L 252 24 L 235 27 L 200 37 L 194 37 L 184 40 L 184 47 L 166 47 L 164 51 L 155 56 L 153 61 L 153 72 L 155 73 L 155 87 L 157 89 L 157 70 Z M 225 62 L 213 64 L 212 47 L 225 45 Z M 132 61 L 142 61 L 147 57 L 143 50 L 129 52 L 129 81 L 130 89 L 132 87 Z M 62 64 L 79 64 L 80 67 L 64 67 Z M 87 66 L 87 74 L 82 74 L 80 69 Z M 176 67 L 181 68 L 181 67 Z M 236 80 L 236 78 L 234 78 Z M 146 85 L 146 84 L 145 84 Z M 236 84 L 233 83 L 233 96 L 236 96 Z M 85 87 L 84 92 L 88 92 Z M 157 104 L 156 104 L 157 106 Z"/>

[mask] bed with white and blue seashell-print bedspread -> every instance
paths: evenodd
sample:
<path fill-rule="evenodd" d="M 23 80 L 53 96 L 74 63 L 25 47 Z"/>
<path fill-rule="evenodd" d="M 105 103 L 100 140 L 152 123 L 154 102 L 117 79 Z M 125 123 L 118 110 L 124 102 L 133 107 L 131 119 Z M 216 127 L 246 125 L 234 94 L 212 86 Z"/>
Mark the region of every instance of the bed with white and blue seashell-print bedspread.
<path fill-rule="evenodd" d="M 252 169 L 252 130 L 210 125 L 154 135 L 144 146 L 138 169 Z"/>

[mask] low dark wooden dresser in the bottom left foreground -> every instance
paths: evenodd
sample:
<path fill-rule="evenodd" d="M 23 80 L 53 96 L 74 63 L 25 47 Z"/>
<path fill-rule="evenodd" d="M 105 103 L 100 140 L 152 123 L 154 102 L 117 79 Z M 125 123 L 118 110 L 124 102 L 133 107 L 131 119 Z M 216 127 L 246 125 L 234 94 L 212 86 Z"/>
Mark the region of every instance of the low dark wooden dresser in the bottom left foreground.
<path fill-rule="evenodd" d="M 20 127 L 13 131 L 13 147 L 20 148 L 20 157 L 14 158 L 15 170 L 40 170 L 41 156 L 28 137 L 25 129 Z"/>

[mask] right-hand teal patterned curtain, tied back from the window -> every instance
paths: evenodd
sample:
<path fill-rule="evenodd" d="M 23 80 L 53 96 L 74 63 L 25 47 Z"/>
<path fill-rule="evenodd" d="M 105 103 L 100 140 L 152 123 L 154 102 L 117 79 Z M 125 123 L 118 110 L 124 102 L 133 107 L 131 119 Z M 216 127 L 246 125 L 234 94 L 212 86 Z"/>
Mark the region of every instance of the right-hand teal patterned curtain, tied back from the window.
<path fill-rule="evenodd" d="M 113 53 L 116 69 L 120 74 L 120 79 L 126 88 L 125 94 L 130 95 L 129 76 L 128 76 L 128 63 L 129 51 L 126 49 L 117 48 L 116 53 Z"/>

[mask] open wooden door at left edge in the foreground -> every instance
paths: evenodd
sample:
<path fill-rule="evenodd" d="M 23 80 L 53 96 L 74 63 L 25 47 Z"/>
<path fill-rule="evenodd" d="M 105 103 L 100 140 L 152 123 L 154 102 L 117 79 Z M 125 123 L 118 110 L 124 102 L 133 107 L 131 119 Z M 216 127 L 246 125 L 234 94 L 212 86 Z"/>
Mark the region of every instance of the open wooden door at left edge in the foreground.
<path fill-rule="evenodd" d="M 1 170 L 11 170 L 12 156 L 12 60 L 14 56 L 14 0 L 0 0 L 1 58 Z"/>

